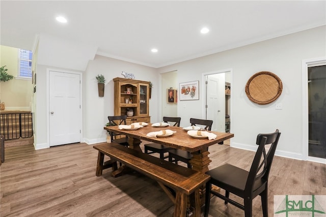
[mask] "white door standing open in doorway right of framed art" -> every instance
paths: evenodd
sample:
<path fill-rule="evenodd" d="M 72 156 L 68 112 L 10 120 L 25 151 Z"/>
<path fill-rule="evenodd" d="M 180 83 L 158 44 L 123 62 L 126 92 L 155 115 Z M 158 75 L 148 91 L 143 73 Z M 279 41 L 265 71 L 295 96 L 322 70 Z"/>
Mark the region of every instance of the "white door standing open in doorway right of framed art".
<path fill-rule="evenodd" d="M 213 120 L 212 131 L 225 131 L 224 73 L 207 76 L 207 119 Z"/>

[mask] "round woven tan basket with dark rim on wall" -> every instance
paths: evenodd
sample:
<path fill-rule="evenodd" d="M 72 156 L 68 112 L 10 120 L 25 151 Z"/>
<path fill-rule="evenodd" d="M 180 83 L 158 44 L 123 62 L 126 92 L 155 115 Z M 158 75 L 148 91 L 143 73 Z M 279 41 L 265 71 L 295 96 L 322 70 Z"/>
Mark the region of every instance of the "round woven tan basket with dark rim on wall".
<path fill-rule="evenodd" d="M 282 93 L 281 79 L 271 72 L 261 71 L 251 76 L 246 85 L 248 98 L 258 104 L 275 101 Z"/>

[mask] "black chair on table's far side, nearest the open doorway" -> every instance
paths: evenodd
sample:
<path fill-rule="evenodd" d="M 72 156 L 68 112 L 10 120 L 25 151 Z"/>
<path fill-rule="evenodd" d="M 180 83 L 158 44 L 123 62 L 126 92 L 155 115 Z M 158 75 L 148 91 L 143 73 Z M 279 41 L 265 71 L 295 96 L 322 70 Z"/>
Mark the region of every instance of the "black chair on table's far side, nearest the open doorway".
<path fill-rule="evenodd" d="M 190 123 L 191 123 L 191 126 L 196 126 L 196 124 L 197 124 L 197 125 L 204 126 L 205 130 L 211 130 L 213 121 L 191 118 Z M 192 168 L 192 165 L 189 162 L 189 160 L 191 160 L 192 157 L 193 157 L 193 155 L 188 151 L 183 151 L 180 149 L 169 150 L 169 161 L 175 162 L 175 164 L 178 164 L 178 161 L 185 162 L 187 164 L 187 168 Z"/>

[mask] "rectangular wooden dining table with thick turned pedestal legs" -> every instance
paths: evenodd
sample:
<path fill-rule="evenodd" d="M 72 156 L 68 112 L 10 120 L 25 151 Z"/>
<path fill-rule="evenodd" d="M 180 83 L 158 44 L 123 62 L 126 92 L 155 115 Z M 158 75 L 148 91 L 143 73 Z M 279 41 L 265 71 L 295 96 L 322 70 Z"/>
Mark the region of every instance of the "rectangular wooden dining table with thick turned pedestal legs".
<path fill-rule="evenodd" d="M 118 126 L 105 126 L 105 130 L 116 132 L 120 134 L 124 134 L 128 137 L 128 144 L 129 148 L 142 151 L 140 144 L 141 140 L 169 146 L 175 149 L 180 149 L 184 151 L 191 152 L 193 157 L 190 160 L 193 170 L 205 173 L 208 171 L 208 165 L 211 162 L 209 159 L 209 152 L 208 147 L 211 145 L 218 145 L 227 139 L 233 138 L 233 133 L 227 132 L 215 132 L 215 131 L 208 131 L 211 133 L 216 134 L 215 140 L 208 140 L 206 139 L 196 139 L 191 137 L 187 134 L 182 127 L 177 126 L 167 126 L 167 127 L 153 127 L 152 124 L 148 124 L 148 126 L 141 127 L 135 130 L 126 130 L 126 129 L 119 129 Z M 152 138 L 148 137 L 147 133 L 155 132 L 160 130 L 167 130 L 170 129 L 175 131 L 169 137 L 164 138 Z"/>

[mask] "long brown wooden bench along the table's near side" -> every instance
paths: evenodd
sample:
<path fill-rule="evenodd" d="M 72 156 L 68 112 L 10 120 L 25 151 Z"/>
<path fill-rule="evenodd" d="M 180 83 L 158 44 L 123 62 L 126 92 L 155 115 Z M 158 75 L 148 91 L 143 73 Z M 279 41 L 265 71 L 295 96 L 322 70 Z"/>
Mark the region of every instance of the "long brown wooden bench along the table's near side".
<path fill-rule="evenodd" d="M 102 175 L 102 170 L 106 168 L 103 163 L 104 155 L 110 156 L 112 160 L 122 162 L 128 168 L 156 180 L 173 201 L 174 216 L 186 215 L 188 198 L 194 205 L 194 216 L 200 216 L 199 188 L 210 179 L 210 176 L 117 143 L 103 143 L 94 145 L 93 148 L 98 150 L 96 176 Z M 112 168 L 113 171 L 117 169 L 116 166 Z M 175 191 L 175 196 L 169 187 Z"/>

